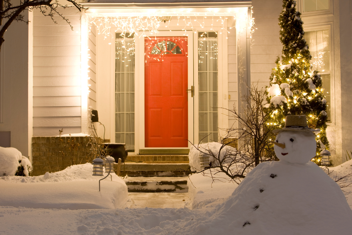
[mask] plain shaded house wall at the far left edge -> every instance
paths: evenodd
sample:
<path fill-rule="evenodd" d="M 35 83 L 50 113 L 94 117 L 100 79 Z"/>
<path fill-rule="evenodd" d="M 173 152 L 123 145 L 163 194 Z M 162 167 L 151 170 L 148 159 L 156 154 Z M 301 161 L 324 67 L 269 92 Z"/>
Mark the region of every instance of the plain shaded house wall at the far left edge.
<path fill-rule="evenodd" d="M 15 3 L 13 3 L 15 4 Z M 27 20 L 29 13 L 22 13 Z M 28 79 L 29 26 L 14 21 L 5 32 L 0 67 L 0 133 L 2 147 L 17 148 L 30 156 Z M 10 145 L 10 146 L 9 146 Z"/>

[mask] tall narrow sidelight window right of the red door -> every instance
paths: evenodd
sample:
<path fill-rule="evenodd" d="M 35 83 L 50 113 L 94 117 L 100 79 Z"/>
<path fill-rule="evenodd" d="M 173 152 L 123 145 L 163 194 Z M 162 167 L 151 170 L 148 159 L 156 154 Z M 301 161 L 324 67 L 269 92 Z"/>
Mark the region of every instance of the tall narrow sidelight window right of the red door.
<path fill-rule="evenodd" d="M 218 37 L 198 33 L 199 141 L 218 141 Z"/>

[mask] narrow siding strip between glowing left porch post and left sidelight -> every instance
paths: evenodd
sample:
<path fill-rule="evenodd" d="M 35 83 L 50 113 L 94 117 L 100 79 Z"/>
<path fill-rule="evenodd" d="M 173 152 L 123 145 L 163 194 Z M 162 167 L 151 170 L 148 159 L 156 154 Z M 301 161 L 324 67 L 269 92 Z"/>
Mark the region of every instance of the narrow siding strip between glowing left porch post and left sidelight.
<path fill-rule="evenodd" d="M 88 33 L 88 48 L 89 48 L 89 73 L 88 80 L 89 86 L 89 103 L 88 106 L 92 109 L 96 109 L 96 30 L 95 26 L 90 27 L 90 32 Z"/>

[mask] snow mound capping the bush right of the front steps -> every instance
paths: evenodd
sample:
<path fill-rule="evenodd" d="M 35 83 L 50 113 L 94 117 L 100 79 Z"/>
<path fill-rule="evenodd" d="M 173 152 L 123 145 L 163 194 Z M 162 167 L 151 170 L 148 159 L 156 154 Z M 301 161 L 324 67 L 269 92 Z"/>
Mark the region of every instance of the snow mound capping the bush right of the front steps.
<path fill-rule="evenodd" d="M 211 154 L 213 154 L 214 156 L 219 155 L 219 150 L 221 146 L 222 144 L 218 142 L 199 144 L 198 146 L 196 146 L 198 147 L 199 150 L 196 149 L 194 146 L 192 146 L 188 154 L 189 166 L 191 167 L 191 171 L 200 171 L 201 168 L 200 168 L 199 155 L 201 154 L 201 151 L 203 153 L 209 153 L 207 155 L 209 155 L 209 161 L 212 162 L 212 166 L 218 166 L 219 165 L 218 162 L 216 161 L 216 159 L 214 159 L 214 157 Z M 231 146 L 225 146 L 224 148 L 221 149 L 220 159 L 223 159 L 226 154 L 234 150 L 235 148 Z"/>

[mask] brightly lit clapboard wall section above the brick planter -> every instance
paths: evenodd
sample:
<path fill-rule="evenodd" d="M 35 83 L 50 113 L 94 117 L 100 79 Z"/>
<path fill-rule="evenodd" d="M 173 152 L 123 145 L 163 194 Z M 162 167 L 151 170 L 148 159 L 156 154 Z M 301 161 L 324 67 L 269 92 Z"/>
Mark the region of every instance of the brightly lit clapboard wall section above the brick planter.
<path fill-rule="evenodd" d="M 74 30 L 33 11 L 33 136 L 81 132 L 81 14 L 60 9 Z"/>

